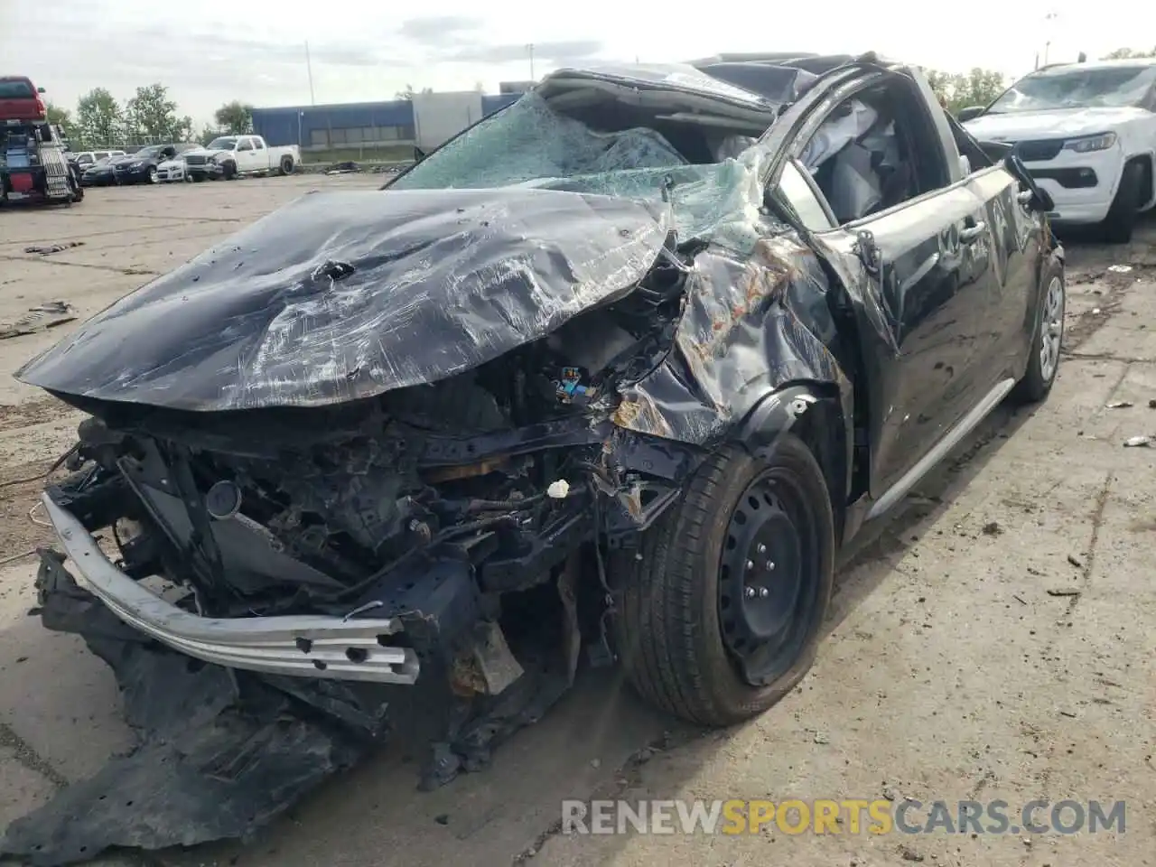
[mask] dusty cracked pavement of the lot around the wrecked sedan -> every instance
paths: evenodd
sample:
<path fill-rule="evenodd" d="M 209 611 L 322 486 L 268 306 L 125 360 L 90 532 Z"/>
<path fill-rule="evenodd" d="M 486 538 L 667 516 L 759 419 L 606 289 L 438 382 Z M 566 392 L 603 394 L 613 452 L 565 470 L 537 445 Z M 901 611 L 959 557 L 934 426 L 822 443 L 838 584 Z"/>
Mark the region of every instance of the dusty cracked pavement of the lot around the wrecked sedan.
<path fill-rule="evenodd" d="M 0 321 L 65 301 L 87 318 L 277 206 L 379 178 L 291 177 L 94 190 L 0 212 Z M 80 242 L 51 253 L 30 245 Z M 1072 239 L 1065 357 L 1051 399 L 996 410 L 839 573 L 803 684 L 725 732 L 680 726 L 613 674 L 586 675 L 492 768 L 416 791 L 397 743 L 247 845 L 111 865 L 377 867 L 688 864 L 792 867 L 1156 864 L 1156 221 L 1129 246 Z M 1109 266 L 1129 265 L 1113 272 Z M 0 371 L 76 323 L 0 340 Z M 1109 408 L 1128 401 L 1129 407 Z M 29 616 L 32 510 L 77 414 L 0 379 L 0 825 L 132 738 L 110 673 Z M 608 836 L 558 832 L 563 799 L 1125 800 L 1124 835 Z"/>

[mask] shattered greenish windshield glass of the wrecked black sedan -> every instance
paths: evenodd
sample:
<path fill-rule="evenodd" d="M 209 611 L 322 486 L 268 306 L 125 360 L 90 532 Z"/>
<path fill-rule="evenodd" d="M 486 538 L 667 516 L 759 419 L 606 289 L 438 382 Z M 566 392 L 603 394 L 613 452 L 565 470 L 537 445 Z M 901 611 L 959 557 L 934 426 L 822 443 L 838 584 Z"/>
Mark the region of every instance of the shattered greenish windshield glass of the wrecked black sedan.
<path fill-rule="evenodd" d="M 534 94 L 447 142 L 387 190 L 481 188 L 512 185 L 643 199 L 669 207 L 682 239 L 710 237 L 749 249 L 757 238 L 765 151 L 726 136 L 714 153 L 736 156 L 691 163 L 658 131 L 636 126 L 599 132 L 554 111 Z M 668 205 L 667 205 L 668 202 Z M 765 234 L 766 228 L 763 225 Z"/>

